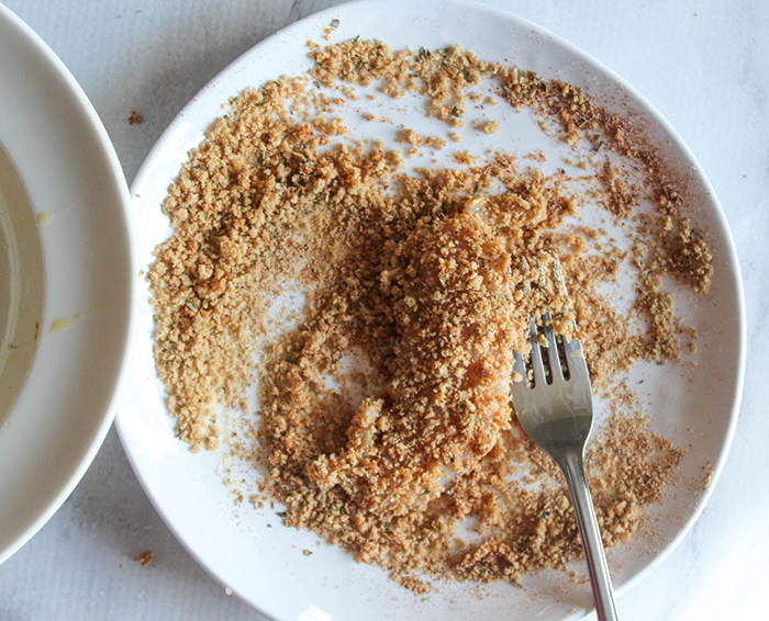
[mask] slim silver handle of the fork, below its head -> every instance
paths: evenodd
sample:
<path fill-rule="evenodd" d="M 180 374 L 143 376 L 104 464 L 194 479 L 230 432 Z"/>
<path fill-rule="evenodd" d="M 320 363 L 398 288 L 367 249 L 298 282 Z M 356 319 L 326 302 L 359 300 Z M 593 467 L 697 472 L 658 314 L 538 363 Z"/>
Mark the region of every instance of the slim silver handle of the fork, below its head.
<path fill-rule="evenodd" d="M 577 526 L 582 537 L 582 547 L 588 561 L 590 583 L 593 587 L 595 599 L 595 612 L 600 621 L 616 621 L 617 613 L 614 605 L 612 578 L 609 574 L 606 555 L 603 551 L 601 531 L 593 501 L 588 488 L 588 478 L 584 475 L 584 463 L 581 453 L 568 452 L 558 460 L 558 465 L 564 471 L 566 484 L 571 493 L 571 500 L 577 513 Z"/>

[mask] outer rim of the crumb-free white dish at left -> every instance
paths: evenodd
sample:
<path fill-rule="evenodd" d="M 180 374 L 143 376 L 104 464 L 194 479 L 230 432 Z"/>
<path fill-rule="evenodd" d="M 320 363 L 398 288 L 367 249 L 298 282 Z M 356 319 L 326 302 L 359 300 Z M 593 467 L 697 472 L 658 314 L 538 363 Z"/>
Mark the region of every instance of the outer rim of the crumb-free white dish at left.
<path fill-rule="evenodd" d="M 60 84 L 55 84 L 51 88 L 55 88 L 62 93 L 66 92 L 69 97 L 74 98 L 77 108 L 83 114 L 83 124 L 88 126 L 90 131 L 92 131 L 96 139 L 94 142 L 99 146 L 98 157 L 102 160 L 104 167 L 111 172 L 110 182 L 113 183 L 115 195 L 118 197 L 114 206 L 119 210 L 119 216 L 123 224 L 122 228 L 129 259 L 129 264 L 126 267 L 130 270 L 129 274 L 132 275 L 137 270 L 137 253 L 133 222 L 131 218 L 129 188 L 120 159 L 118 158 L 118 154 L 114 149 L 114 145 L 112 144 L 109 134 L 107 133 L 107 129 L 99 117 L 99 114 L 96 112 L 93 104 L 89 101 L 88 97 L 82 90 L 82 87 L 80 87 L 80 84 L 77 82 L 64 61 L 56 55 L 48 44 L 45 43 L 45 41 L 29 24 L 26 24 L 26 22 L 24 22 L 19 15 L 2 3 L 0 3 L 0 24 L 9 30 L 14 30 L 19 34 L 19 37 L 23 39 L 23 47 L 40 55 L 40 58 L 44 59 L 46 67 L 52 72 L 56 74 L 57 78 L 62 80 Z M 43 247 L 45 249 L 45 244 Z M 126 279 L 123 286 L 127 293 L 127 298 L 130 300 L 130 307 L 126 309 L 127 316 L 126 320 L 122 325 L 122 331 L 116 335 L 116 338 L 122 341 L 122 357 L 116 374 L 111 377 L 109 403 L 107 404 L 99 422 L 94 424 L 91 428 L 93 433 L 90 442 L 87 445 L 78 445 L 81 453 L 79 462 L 75 467 L 70 468 L 69 472 L 66 472 L 59 477 L 60 483 L 57 485 L 57 492 L 48 499 L 45 508 L 37 511 L 36 516 L 29 520 L 27 526 L 23 528 L 14 539 L 11 539 L 4 547 L 0 549 L 0 565 L 13 556 L 13 554 L 15 554 L 25 543 L 27 543 L 43 528 L 43 526 L 48 522 L 56 511 L 58 511 L 78 483 L 82 479 L 86 471 L 90 467 L 112 426 L 116 413 L 120 387 L 129 372 L 127 353 L 131 351 L 131 345 L 134 340 L 136 331 L 137 289 L 133 278 Z M 38 354 L 40 349 L 36 352 L 35 358 Z M 21 392 L 23 393 L 24 388 L 22 388 Z M 9 418 L 12 415 L 13 411 L 9 414 Z"/>

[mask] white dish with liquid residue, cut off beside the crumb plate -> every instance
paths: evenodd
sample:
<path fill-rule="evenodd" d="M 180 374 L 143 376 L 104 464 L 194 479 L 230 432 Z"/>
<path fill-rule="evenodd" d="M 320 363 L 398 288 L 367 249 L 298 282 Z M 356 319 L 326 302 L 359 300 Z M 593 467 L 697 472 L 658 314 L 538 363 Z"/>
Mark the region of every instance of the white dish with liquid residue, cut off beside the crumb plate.
<path fill-rule="evenodd" d="M 2 4 L 0 194 L 0 408 L 12 406 L 0 427 L 2 563 L 64 503 L 107 434 L 135 271 L 107 132 L 62 61 Z"/>

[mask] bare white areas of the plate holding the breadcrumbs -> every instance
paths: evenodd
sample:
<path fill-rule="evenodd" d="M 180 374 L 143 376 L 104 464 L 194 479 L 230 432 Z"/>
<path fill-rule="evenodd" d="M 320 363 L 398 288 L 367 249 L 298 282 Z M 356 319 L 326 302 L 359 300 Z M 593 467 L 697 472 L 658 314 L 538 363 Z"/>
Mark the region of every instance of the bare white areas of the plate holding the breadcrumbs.
<path fill-rule="evenodd" d="M 686 308 L 700 329 L 700 366 L 648 365 L 636 373 L 647 380 L 644 396 L 655 427 L 679 445 L 691 449 L 677 483 L 665 500 L 650 509 L 645 532 L 610 554 L 615 585 L 618 591 L 624 590 L 675 547 L 713 488 L 738 411 L 745 324 L 737 259 L 710 183 L 659 112 L 601 64 L 528 22 L 477 4 L 356 2 L 302 20 L 264 41 L 220 74 L 185 108 L 147 157 L 132 188 L 140 266 L 149 266 L 153 248 L 170 234 L 159 205 L 187 159 L 188 149 L 201 142 L 204 129 L 223 113 L 222 104 L 247 87 L 307 70 L 310 61 L 305 42 L 322 41 L 323 29 L 332 19 L 339 20 L 334 32 L 339 41 L 360 35 L 380 38 L 393 48 L 437 48 L 458 43 L 480 58 L 516 64 L 546 78 L 557 76 L 579 84 L 618 112 L 635 115 L 648 137 L 659 145 L 661 156 L 686 180 L 687 204 L 692 205 L 691 215 L 696 226 L 706 232 L 715 255 L 711 294 Z M 522 153 L 543 149 L 548 155 L 546 166 L 559 165 L 558 148 L 562 147 L 544 136 L 525 114 L 516 115 L 501 105 L 498 109 L 495 114 L 503 118 L 500 133 L 494 137 L 483 135 L 482 142 L 480 133 L 476 132 L 475 137 L 466 133 L 461 148 L 473 151 L 492 139 L 508 140 L 509 148 Z M 406 126 L 417 131 L 420 123 L 437 123 L 425 121 L 408 100 L 399 103 L 397 113 L 399 121 L 403 118 Z M 347 118 L 353 136 L 379 132 L 392 143 L 392 126 L 366 125 L 354 110 Z M 566 574 L 557 572 L 526 576 L 526 588 L 522 590 L 510 585 L 484 588 L 484 598 L 473 596 L 468 585 L 443 585 L 425 598 L 416 597 L 389 582 L 382 569 L 357 564 L 341 550 L 319 544 L 312 533 L 283 528 L 274 511 L 256 511 L 247 503 L 235 506 L 221 481 L 232 464 L 210 453 L 192 454 L 175 439 L 174 420 L 164 408 L 163 386 L 153 365 L 153 310 L 146 283 L 137 281 L 137 285 L 143 291 L 137 338 L 131 381 L 120 402 L 118 428 L 134 470 L 160 516 L 224 587 L 279 619 L 546 620 L 579 618 L 590 609 L 588 586 L 575 585 Z M 710 468 L 713 471 L 706 483 Z M 314 554 L 304 556 L 304 549 Z"/>

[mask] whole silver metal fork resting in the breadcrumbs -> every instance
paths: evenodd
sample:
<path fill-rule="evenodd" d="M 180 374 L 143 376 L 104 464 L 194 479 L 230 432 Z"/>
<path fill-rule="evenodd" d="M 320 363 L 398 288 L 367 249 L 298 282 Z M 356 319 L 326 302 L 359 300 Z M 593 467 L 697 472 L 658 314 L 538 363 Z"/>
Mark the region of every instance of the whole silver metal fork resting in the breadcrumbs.
<path fill-rule="evenodd" d="M 543 319 L 549 352 L 550 383 L 547 383 L 537 326 L 532 321 L 530 340 L 534 386 L 528 386 L 524 358 L 514 352 L 511 387 L 513 407 L 524 431 L 564 472 L 582 537 L 598 618 L 601 621 L 615 621 L 617 613 L 611 576 L 584 475 L 584 444 L 593 426 L 593 398 L 588 364 L 581 343 L 576 338 L 568 342 L 564 339 L 567 380 L 561 371 L 550 314 L 546 313 Z"/>

